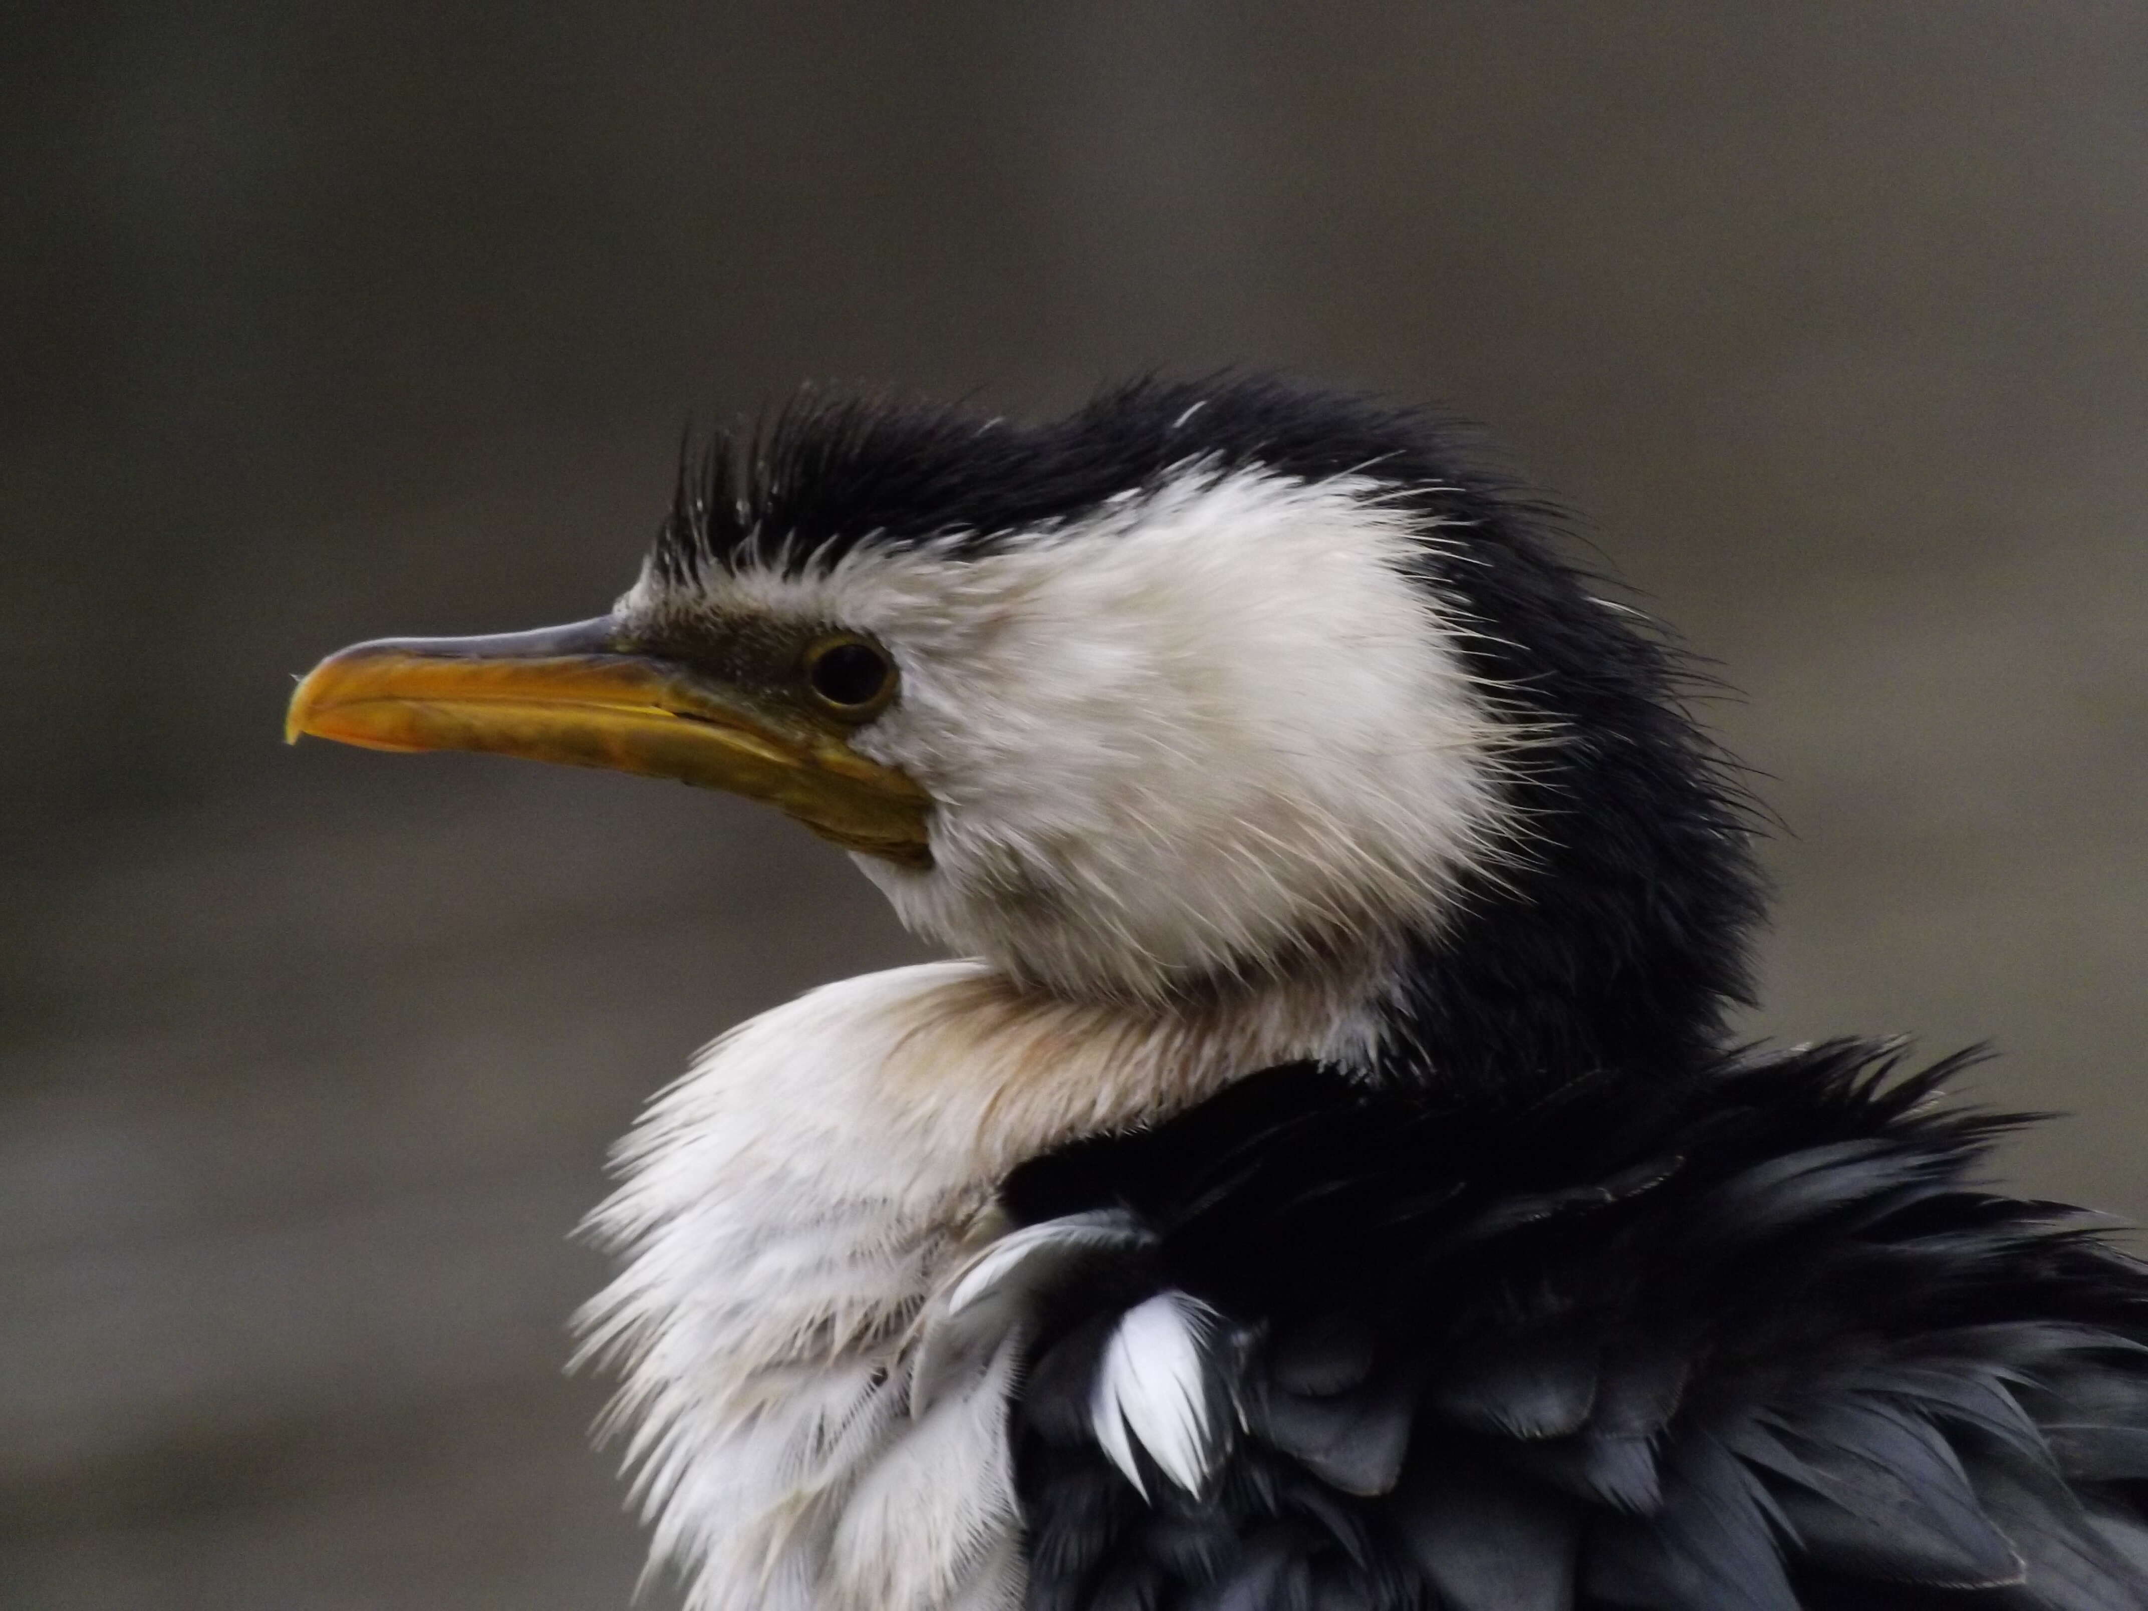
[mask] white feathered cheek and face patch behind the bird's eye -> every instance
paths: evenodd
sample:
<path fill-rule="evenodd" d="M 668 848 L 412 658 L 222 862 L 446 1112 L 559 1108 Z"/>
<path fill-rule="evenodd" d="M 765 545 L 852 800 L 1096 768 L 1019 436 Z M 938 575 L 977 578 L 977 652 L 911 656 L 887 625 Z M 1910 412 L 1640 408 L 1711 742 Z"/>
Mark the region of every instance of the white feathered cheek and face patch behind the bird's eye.
<path fill-rule="evenodd" d="M 1469 670 L 1437 541 L 1373 477 L 1190 462 L 992 552 L 861 541 L 621 612 L 887 644 L 902 694 L 851 743 L 932 795 L 932 866 L 859 866 L 915 932 L 1068 995 L 1259 984 L 1308 949 L 1375 995 L 1396 934 L 1514 855 L 1506 780 L 1547 737 Z"/>

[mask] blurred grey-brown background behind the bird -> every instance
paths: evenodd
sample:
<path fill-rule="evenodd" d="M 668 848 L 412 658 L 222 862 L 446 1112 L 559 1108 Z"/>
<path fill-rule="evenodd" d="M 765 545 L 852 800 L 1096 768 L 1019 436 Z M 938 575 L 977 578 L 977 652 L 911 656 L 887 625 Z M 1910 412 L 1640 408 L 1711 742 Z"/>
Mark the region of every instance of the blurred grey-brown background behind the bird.
<path fill-rule="evenodd" d="M 2148 1179 L 2148 11 L 49 6 L 0 60 L 0 1602 L 625 1607 L 604 1151 L 915 956 L 713 795 L 286 750 L 586 616 L 679 427 L 1250 361 L 1435 400 L 1738 690 L 1751 1029 Z M 644 1605 L 666 1607 L 666 1587 Z"/>

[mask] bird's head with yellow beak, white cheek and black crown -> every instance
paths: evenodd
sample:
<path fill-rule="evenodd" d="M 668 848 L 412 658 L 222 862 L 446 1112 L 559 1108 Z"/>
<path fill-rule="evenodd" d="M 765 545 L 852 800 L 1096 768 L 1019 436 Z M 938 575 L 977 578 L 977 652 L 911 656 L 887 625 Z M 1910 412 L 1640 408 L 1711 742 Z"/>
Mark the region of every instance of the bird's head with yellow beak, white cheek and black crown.
<path fill-rule="evenodd" d="M 1027 986 L 1319 977 L 1366 1055 L 1525 1074 L 1740 982 L 1744 833 L 1669 677 L 1416 415 L 1145 382 L 1040 427 L 799 404 L 681 468 L 608 614 L 357 644 L 290 732 L 752 795 Z"/>

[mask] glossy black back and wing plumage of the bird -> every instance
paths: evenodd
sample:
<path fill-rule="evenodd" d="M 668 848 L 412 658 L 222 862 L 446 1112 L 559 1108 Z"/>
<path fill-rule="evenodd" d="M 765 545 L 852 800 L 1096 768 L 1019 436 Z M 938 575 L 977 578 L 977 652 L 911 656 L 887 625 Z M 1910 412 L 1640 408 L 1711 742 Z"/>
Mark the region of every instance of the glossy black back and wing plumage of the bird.
<path fill-rule="evenodd" d="M 1856 1042 L 1549 1098 L 1261 1074 L 1018 1171 L 1153 1244 L 1055 1295 L 1016 1411 L 1031 1605 L 2137 1607 L 2148 1278 L 1978 1190 L 2008 1121 Z M 1102 1336 L 1211 1304 L 1237 1407 L 1149 1499 Z"/>

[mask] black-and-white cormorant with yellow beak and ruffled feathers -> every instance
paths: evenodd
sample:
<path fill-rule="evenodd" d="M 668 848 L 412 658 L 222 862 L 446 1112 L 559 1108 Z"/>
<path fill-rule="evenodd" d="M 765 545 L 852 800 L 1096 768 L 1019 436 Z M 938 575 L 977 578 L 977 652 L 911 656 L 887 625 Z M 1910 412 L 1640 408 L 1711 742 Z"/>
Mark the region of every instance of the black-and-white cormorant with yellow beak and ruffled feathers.
<path fill-rule="evenodd" d="M 947 958 L 724 1031 L 580 1315 L 694 1611 L 2148 1607 L 2148 1269 L 1738 1037 L 1697 670 L 1426 410 L 801 393 L 288 737 L 763 799 Z"/>

